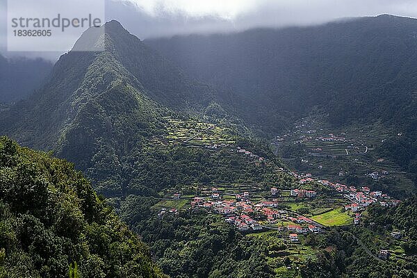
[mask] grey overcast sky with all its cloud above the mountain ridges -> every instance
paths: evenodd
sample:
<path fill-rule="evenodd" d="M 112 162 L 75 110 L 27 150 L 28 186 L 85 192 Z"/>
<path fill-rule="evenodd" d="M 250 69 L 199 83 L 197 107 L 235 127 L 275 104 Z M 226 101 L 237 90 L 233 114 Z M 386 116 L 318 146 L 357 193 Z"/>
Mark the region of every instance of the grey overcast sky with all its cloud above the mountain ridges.
<path fill-rule="evenodd" d="M 59 5 L 59 1 L 70 0 L 54 0 L 54 3 Z M 417 0 L 104 1 L 106 1 L 106 19 L 117 19 L 141 39 L 188 33 L 242 31 L 260 26 L 305 26 L 321 24 L 341 17 L 381 14 L 417 17 Z M 6 0 L 0 0 L 0 18 L 3 19 L 0 26 L 0 51 L 10 56 L 10 53 L 5 53 L 5 3 Z M 50 58 L 57 56 L 57 54 L 44 53 L 31 55 Z"/>

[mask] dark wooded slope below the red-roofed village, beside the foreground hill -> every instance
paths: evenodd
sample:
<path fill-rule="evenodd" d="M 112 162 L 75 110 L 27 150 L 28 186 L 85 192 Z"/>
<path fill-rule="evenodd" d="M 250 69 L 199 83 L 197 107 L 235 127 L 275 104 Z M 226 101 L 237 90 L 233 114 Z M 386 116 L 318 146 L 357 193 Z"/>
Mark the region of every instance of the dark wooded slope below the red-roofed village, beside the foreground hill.
<path fill-rule="evenodd" d="M 132 209 L 126 205 L 121 213 Z M 181 213 L 136 225 L 171 277 L 273 277 L 263 240 L 245 238 L 220 217 Z"/>

